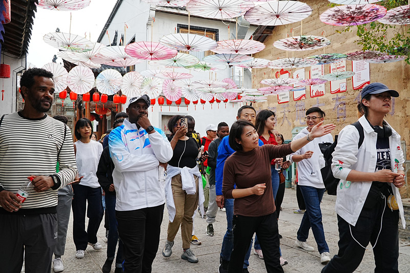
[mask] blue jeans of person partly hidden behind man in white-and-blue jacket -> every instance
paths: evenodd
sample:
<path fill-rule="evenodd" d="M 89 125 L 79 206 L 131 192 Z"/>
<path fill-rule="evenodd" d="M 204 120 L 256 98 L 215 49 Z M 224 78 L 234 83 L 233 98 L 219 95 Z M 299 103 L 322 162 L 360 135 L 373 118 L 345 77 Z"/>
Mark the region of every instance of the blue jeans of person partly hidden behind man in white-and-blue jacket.
<path fill-rule="evenodd" d="M 106 214 L 108 214 L 108 220 L 110 224 L 107 242 L 107 258 L 114 259 L 115 248 L 117 248 L 118 241 L 118 223 L 117 218 L 115 218 L 115 195 L 106 194 Z M 122 260 L 122 241 L 119 240 L 117 258 L 115 260 L 115 263 L 122 263 Z"/>

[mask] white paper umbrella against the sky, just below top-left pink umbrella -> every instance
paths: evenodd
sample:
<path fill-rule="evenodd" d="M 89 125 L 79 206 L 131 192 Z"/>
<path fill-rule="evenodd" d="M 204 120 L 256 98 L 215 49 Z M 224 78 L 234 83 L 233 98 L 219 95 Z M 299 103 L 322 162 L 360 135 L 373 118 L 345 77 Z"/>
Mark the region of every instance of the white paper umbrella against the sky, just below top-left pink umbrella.
<path fill-rule="evenodd" d="M 46 44 L 63 51 L 84 52 L 94 48 L 94 43 L 84 37 L 64 32 L 44 35 Z"/>

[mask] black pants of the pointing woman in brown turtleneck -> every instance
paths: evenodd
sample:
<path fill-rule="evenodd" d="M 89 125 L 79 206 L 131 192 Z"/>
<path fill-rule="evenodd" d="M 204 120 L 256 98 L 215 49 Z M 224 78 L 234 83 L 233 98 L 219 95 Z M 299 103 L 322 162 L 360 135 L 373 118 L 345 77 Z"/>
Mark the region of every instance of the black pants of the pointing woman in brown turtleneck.
<path fill-rule="evenodd" d="M 279 260 L 278 219 L 276 213 L 259 217 L 234 215 L 232 223 L 234 249 L 229 261 L 229 273 L 242 272 L 243 260 L 254 233 L 258 236 L 267 272 L 283 272 Z"/>

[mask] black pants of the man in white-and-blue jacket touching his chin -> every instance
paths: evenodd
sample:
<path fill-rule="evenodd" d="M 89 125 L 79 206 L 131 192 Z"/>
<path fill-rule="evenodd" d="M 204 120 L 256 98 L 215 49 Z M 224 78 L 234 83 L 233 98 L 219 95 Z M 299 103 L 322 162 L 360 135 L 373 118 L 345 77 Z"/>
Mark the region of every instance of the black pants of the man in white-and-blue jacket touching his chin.
<path fill-rule="evenodd" d="M 151 273 L 158 251 L 163 207 L 164 204 L 135 211 L 115 211 L 126 273 Z"/>

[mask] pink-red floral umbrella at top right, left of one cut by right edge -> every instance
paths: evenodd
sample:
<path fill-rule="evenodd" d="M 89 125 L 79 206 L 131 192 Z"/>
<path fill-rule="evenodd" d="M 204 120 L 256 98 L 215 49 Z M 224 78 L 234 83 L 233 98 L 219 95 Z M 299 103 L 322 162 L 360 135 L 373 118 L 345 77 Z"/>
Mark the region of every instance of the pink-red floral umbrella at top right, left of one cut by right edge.
<path fill-rule="evenodd" d="M 382 18 L 386 12 L 385 7 L 376 4 L 344 5 L 326 10 L 319 18 L 327 25 L 358 26 Z"/>

